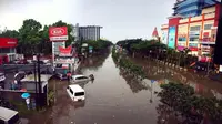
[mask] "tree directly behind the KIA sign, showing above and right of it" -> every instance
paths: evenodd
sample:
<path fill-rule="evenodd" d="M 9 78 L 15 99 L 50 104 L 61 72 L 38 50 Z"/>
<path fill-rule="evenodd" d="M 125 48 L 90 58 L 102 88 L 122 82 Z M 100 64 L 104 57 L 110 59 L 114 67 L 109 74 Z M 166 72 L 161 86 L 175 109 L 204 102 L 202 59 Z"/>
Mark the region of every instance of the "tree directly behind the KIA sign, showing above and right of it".
<path fill-rule="evenodd" d="M 74 42 L 74 37 L 72 35 L 72 31 L 73 31 L 74 27 L 72 24 L 68 24 L 68 23 L 59 20 L 58 22 L 53 23 L 52 27 L 67 27 L 69 39 L 65 42 L 65 45 L 69 46 L 72 42 Z"/>

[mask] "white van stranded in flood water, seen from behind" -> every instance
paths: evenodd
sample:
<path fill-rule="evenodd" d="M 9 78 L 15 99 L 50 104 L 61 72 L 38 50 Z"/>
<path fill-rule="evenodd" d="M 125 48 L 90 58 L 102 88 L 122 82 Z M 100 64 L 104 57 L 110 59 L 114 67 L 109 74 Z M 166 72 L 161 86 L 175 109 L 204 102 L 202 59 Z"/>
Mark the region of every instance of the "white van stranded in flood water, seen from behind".
<path fill-rule="evenodd" d="M 69 85 L 67 92 L 72 101 L 84 101 L 85 99 L 84 90 L 80 85 Z"/>

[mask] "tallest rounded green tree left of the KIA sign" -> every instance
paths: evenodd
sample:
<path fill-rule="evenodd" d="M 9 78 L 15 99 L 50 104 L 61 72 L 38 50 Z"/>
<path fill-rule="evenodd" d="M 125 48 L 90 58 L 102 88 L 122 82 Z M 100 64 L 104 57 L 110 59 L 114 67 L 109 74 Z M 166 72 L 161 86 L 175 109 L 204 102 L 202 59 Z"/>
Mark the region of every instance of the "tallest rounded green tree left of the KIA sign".
<path fill-rule="evenodd" d="M 32 54 L 38 51 L 37 45 L 41 42 L 40 22 L 33 19 L 23 21 L 23 25 L 19 29 L 19 45 L 22 48 L 22 53 Z"/>

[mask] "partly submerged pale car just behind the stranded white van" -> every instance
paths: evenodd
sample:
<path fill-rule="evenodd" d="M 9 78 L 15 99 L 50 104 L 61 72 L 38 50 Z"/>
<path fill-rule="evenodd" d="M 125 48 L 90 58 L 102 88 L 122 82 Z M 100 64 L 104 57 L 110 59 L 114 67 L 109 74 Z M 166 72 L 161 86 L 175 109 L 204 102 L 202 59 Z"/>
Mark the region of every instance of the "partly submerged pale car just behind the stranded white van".
<path fill-rule="evenodd" d="M 94 80 L 94 76 L 91 74 L 89 76 L 85 75 L 72 75 L 70 81 L 71 83 L 78 83 L 78 82 L 88 82 Z"/>

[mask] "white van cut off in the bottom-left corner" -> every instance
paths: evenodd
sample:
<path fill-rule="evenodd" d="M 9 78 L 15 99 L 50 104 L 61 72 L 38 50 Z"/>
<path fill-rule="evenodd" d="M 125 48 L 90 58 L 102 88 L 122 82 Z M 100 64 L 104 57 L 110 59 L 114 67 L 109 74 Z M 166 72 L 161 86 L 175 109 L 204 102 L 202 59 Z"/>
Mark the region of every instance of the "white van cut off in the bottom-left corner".
<path fill-rule="evenodd" d="M 0 106 L 0 124 L 21 124 L 19 113 Z"/>

